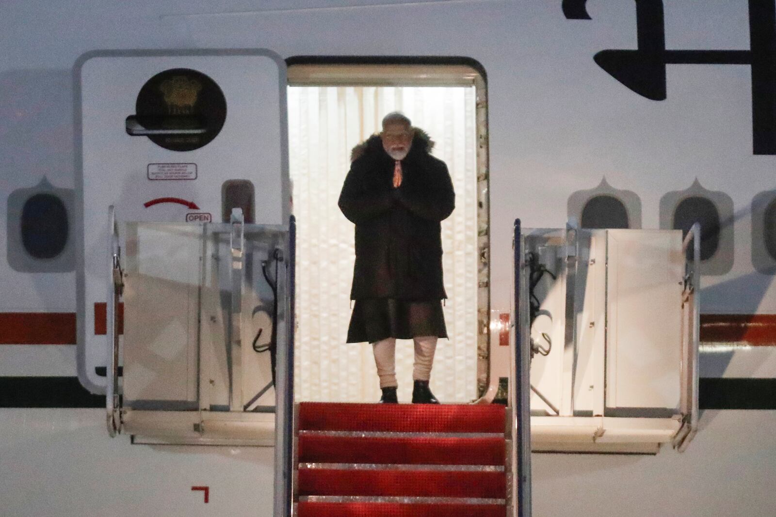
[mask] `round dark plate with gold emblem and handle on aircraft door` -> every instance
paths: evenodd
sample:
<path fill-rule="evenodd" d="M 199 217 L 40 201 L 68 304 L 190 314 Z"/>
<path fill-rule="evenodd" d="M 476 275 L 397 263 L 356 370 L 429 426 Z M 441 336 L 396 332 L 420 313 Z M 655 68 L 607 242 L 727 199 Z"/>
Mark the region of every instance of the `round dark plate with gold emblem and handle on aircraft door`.
<path fill-rule="evenodd" d="M 172 68 L 149 79 L 135 104 L 148 138 L 173 151 L 210 143 L 227 119 L 227 100 L 216 81 L 189 68 Z"/>

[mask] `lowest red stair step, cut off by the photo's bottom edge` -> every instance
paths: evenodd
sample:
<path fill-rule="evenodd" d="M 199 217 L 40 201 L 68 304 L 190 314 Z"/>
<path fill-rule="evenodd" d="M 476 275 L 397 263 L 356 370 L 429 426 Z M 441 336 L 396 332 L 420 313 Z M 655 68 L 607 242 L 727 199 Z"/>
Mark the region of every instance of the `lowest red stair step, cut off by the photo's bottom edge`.
<path fill-rule="evenodd" d="M 504 505 L 300 501 L 298 517 L 505 517 Z"/>

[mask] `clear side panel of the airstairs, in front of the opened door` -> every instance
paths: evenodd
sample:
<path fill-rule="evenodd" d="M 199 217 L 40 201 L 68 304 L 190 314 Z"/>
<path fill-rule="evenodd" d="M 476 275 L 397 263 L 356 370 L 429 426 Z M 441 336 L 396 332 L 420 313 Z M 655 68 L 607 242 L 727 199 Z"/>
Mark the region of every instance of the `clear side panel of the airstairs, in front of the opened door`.
<path fill-rule="evenodd" d="M 245 225 L 239 257 L 232 231 L 229 224 L 126 224 L 126 408 L 273 410 L 273 286 L 284 288 L 285 231 Z M 279 317 L 282 325 L 282 311 Z"/>

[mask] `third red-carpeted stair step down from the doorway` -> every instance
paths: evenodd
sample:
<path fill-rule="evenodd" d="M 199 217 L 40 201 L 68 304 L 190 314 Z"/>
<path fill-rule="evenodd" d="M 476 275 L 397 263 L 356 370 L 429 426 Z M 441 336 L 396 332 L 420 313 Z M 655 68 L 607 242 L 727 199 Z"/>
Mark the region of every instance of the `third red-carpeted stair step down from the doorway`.
<path fill-rule="evenodd" d="M 506 498 L 504 472 L 300 469 L 297 495 Z"/>

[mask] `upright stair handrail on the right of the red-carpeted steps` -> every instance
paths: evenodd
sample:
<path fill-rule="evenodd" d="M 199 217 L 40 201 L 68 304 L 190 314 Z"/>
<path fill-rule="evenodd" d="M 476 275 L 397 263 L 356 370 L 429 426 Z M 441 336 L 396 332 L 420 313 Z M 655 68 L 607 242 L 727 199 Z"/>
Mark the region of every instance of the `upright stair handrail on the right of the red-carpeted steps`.
<path fill-rule="evenodd" d="M 531 341 L 525 293 L 525 238 L 520 219 L 514 219 L 514 342 L 509 404 L 511 405 L 512 515 L 531 516 Z"/>

